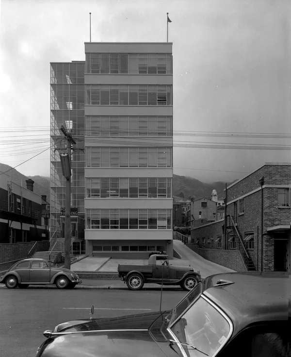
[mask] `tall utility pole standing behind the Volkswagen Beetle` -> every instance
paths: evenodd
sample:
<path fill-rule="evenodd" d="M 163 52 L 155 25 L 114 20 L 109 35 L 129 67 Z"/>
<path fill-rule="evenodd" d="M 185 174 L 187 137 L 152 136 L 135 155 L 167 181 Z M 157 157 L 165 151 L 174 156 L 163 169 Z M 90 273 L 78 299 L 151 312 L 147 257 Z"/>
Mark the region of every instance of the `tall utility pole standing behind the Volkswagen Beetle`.
<path fill-rule="evenodd" d="M 65 176 L 65 268 L 70 269 L 71 267 L 71 146 L 72 143 L 76 144 L 76 141 L 72 138 L 72 134 L 68 133 L 64 126 L 61 126 L 61 131 L 66 137 L 66 149 L 68 156 L 68 169 L 64 172 Z"/>

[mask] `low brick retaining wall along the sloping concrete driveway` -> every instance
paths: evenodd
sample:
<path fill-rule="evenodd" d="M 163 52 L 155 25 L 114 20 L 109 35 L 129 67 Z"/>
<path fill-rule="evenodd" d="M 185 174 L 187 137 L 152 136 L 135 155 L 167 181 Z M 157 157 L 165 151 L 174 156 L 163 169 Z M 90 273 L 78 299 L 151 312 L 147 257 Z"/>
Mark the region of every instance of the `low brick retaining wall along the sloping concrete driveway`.
<path fill-rule="evenodd" d="M 213 263 L 223 265 L 224 267 L 233 269 L 237 272 L 247 271 L 242 255 L 237 250 L 226 251 L 224 249 L 203 249 L 191 243 L 187 244 L 187 246 L 195 253 Z"/>

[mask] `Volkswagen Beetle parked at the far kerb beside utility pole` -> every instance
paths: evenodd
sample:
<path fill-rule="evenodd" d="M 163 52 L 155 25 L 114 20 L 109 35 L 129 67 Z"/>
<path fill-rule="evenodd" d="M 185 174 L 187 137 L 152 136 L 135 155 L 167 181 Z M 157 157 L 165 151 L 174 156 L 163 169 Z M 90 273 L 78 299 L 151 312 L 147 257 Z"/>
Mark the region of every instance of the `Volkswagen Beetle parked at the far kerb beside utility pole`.
<path fill-rule="evenodd" d="M 81 282 L 75 272 L 56 266 L 51 267 L 47 260 L 41 258 L 20 260 L 0 276 L 0 283 L 4 283 L 8 289 L 17 286 L 26 289 L 29 285 L 49 284 L 55 284 L 58 289 L 73 289 Z"/>

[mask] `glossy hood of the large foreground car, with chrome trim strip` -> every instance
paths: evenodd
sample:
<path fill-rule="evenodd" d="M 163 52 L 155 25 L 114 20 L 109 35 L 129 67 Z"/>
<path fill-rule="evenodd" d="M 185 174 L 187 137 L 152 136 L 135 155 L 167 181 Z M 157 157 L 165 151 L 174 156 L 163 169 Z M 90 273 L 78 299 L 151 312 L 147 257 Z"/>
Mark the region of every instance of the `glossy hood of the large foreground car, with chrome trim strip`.
<path fill-rule="evenodd" d="M 46 340 L 37 357 L 177 357 L 178 346 L 170 346 L 161 333 L 169 312 L 75 321 L 59 330 L 69 323 L 61 324 L 58 331 L 64 334 Z"/>

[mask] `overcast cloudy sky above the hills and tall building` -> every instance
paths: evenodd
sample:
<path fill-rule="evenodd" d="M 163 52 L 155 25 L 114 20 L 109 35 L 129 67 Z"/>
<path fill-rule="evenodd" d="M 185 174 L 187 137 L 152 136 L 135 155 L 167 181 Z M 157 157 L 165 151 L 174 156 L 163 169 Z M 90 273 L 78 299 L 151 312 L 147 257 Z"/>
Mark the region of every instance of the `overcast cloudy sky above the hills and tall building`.
<path fill-rule="evenodd" d="M 166 42 L 169 13 L 174 173 L 229 182 L 265 162 L 291 162 L 290 150 L 278 150 L 291 149 L 290 0 L 2 0 L 0 6 L 1 163 L 28 160 L 16 170 L 49 176 L 49 62 L 85 60 L 89 12 L 92 42 Z"/>

